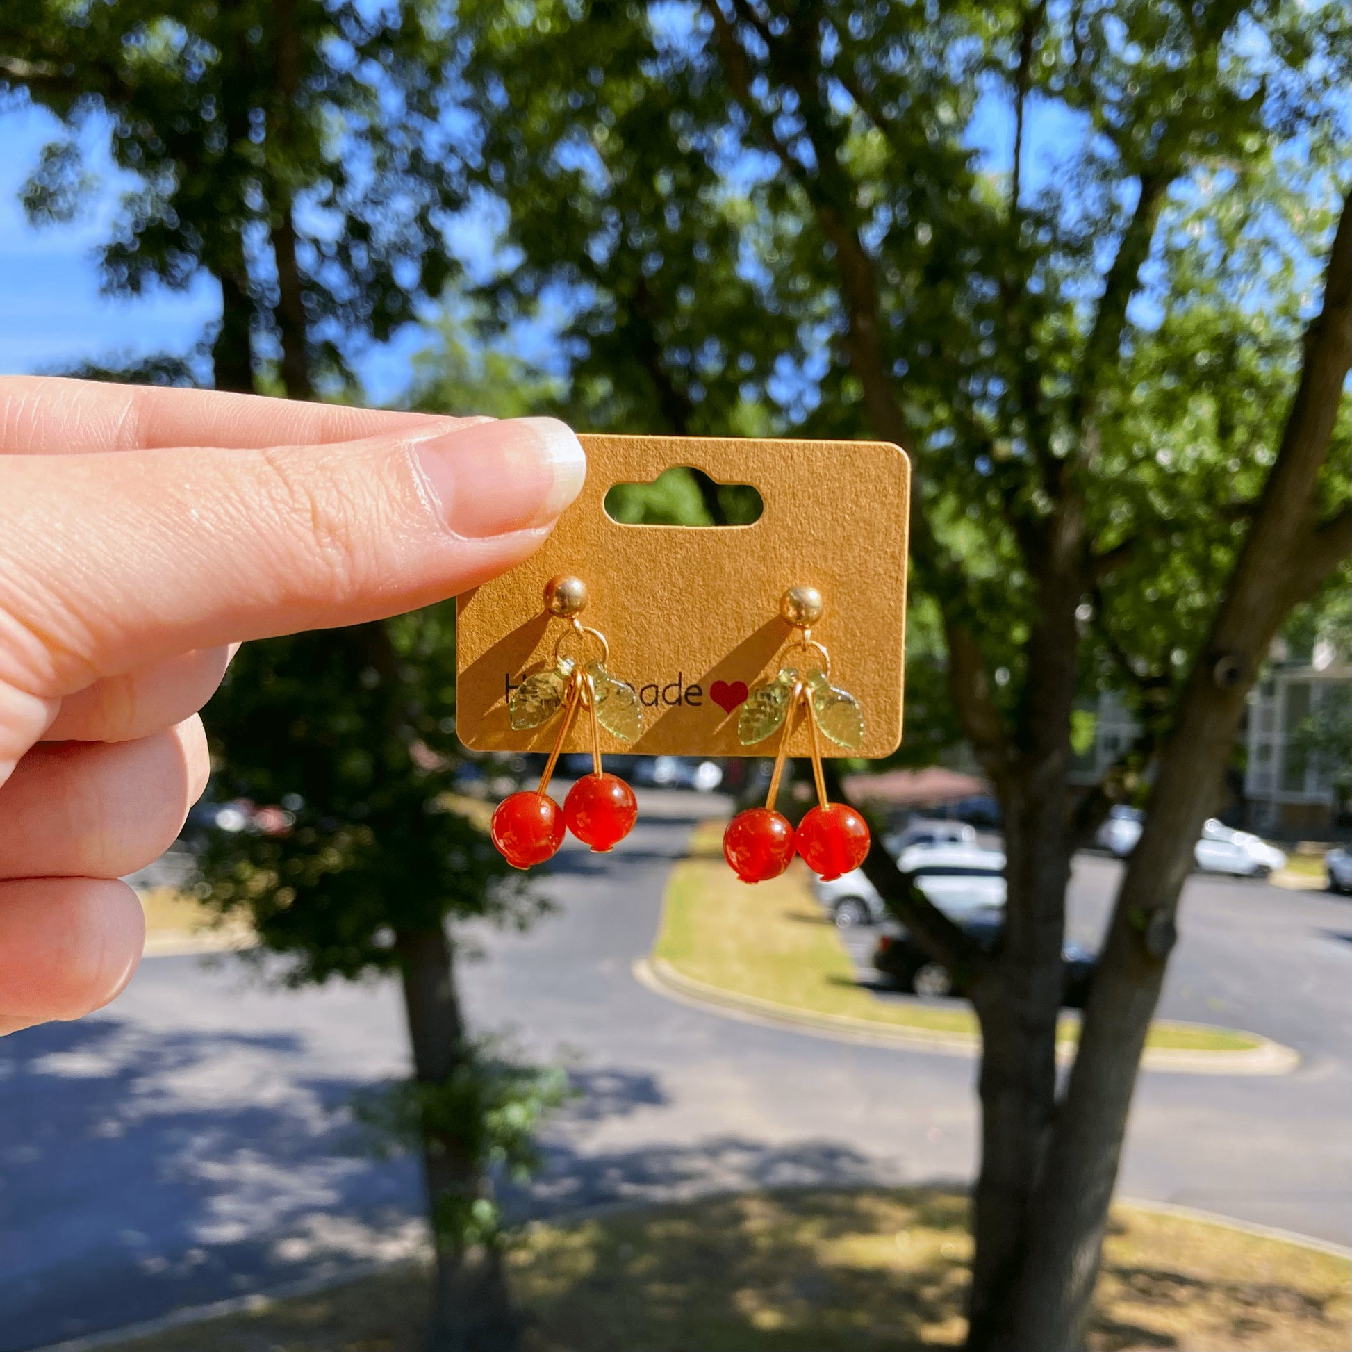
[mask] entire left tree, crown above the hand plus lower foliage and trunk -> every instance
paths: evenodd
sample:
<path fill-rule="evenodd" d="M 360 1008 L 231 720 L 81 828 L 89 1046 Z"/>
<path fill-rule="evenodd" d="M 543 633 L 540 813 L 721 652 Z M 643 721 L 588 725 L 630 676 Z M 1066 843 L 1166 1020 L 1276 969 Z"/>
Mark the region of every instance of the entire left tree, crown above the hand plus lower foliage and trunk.
<path fill-rule="evenodd" d="M 222 292 L 218 388 L 346 388 L 354 346 L 414 318 L 453 266 L 446 18 L 431 0 L 15 0 L 0 12 L 0 80 L 69 132 L 45 150 L 28 210 L 78 210 L 91 185 L 76 132 L 107 118 L 114 160 L 137 174 L 101 250 L 107 288 L 204 270 Z M 178 383 L 192 366 L 85 373 Z M 529 1163 L 558 1084 L 477 1040 L 460 1006 L 457 922 L 525 923 L 535 903 L 446 807 L 453 635 L 441 607 L 246 648 L 207 713 L 216 788 L 289 804 L 295 822 L 218 836 L 203 872 L 207 899 L 246 913 L 289 982 L 399 975 L 414 1079 L 377 1115 L 423 1153 L 430 1345 L 483 1352 L 516 1338 L 493 1180 Z"/>

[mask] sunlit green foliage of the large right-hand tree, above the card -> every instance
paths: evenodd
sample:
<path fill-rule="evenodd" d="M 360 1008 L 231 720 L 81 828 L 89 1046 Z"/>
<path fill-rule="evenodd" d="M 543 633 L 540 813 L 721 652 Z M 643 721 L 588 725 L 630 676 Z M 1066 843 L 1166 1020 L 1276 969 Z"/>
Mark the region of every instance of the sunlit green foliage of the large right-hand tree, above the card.
<path fill-rule="evenodd" d="M 1080 688 L 1172 706 L 1347 184 L 1345 9 L 469 0 L 460 22 L 477 178 L 510 211 L 484 297 L 502 327 L 566 292 L 581 425 L 877 435 L 863 314 L 933 522 L 919 584 L 1005 673 L 1011 741 L 1057 512 L 1111 560 L 1079 598 Z M 973 139 L 1017 118 L 1055 169 Z M 1348 434 L 1344 408 L 1329 511 Z M 696 507 L 629 507 L 653 510 Z M 956 733 L 937 657 L 911 675 L 929 754 Z"/>

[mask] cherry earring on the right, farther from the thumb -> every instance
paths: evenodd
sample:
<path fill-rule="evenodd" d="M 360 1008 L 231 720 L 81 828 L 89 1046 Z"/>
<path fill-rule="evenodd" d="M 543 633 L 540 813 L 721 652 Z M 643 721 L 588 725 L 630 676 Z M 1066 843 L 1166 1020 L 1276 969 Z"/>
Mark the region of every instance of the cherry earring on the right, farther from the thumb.
<path fill-rule="evenodd" d="M 859 868 L 868 853 L 869 831 L 864 818 L 846 803 L 831 803 L 826 798 L 821 738 L 825 735 L 846 750 L 857 749 L 864 741 L 864 711 L 849 691 L 830 683 L 830 653 L 813 638 L 811 627 L 822 608 L 822 594 L 815 587 L 791 587 L 784 592 L 780 615 L 794 626 L 796 637 L 780 656 L 779 673 L 746 696 L 737 719 L 737 737 L 744 746 L 754 746 L 783 729 L 765 806 L 738 813 L 723 833 L 723 857 L 744 883 L 777 877 L 792 863 L 795 852 L 823 882 L 830 882 Z M 802 662 L 806 671 L 790 664 L 790 657 L 799 653 L 806 658 Z M 813 740 L 817 807 L 795 831 L 788 818 L 775 811 L 775 799 L 799 706 L 806 713 Z"/>

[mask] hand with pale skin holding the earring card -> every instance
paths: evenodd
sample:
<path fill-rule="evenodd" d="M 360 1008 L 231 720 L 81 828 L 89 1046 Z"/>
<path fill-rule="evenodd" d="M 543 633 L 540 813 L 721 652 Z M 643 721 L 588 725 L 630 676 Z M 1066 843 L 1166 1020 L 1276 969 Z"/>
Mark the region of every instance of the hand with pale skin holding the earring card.
<path fill-rule="evenodd" d="M 552 419 L 0 379 L 0 1033 L 135 969 L 230 645 L 475 587 L 584 475 Z"/>

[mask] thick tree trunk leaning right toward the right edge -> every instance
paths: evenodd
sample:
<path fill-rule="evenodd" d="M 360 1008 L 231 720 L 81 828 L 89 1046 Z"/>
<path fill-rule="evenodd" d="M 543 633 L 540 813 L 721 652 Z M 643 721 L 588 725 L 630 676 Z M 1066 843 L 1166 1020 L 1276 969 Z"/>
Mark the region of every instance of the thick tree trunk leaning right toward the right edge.
<path fill-rule="evenodd" d="M 1248 691 L 1291 607 L 1348 553 L 1345 511 L 1320 525 L 1315 487 L 1352 365 L 1352 197 L 1306 334 L 1276 462 L 1160 756 L 1141 840 L 1107 942 L 1028 1228 L 1028 1256 L 999 1352 L 1076 1352 L 1151 1019 L 1178 937 L 1192 844 L 1221 790 Z M 1329 533 L 1333 531 L 1330 535 Z"/>

